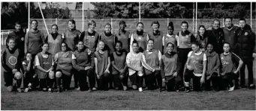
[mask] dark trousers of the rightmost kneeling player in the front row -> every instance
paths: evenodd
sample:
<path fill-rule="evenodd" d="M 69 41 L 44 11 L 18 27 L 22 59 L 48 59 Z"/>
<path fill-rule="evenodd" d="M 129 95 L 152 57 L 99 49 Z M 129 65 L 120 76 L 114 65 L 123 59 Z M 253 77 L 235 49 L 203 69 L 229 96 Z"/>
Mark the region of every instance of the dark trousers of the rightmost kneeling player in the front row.
<path fill-rule="evenodd" d="M 228 86 L 233 86 L 233 80 L 237 79 L 237 74 L 229 72 L 221 76 L 221 89 L 227 89 Z"/>

